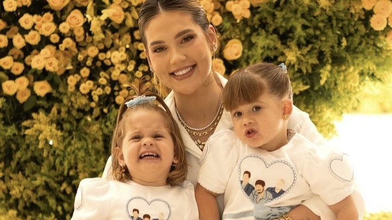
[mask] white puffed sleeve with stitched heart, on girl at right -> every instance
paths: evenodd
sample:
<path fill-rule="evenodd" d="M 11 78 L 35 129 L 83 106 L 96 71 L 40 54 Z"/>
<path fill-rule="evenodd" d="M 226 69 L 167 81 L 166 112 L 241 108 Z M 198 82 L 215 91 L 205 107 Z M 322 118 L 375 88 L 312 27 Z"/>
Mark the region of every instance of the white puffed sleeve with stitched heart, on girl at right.
<path fill-rule="evenodd" d="M 316 148 L 309 152 L 302 176 L 313 193 L 333 205 L 353 193 L 353 168 L 347 154 L 329 146 Z"/>

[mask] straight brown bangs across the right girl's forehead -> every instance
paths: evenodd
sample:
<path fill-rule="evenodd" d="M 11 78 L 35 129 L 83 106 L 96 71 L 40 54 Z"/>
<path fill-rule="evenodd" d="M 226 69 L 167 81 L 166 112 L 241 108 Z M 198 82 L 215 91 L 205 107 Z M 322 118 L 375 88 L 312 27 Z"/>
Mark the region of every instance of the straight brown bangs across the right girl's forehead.
<path fill-rule="evenodd" d="M 260 77 L 239 70 L 230 77 L 223 89 L 223 106 L 230 111 L 240 105 L 255 102 L 264 90 L 265 84 Z"/>

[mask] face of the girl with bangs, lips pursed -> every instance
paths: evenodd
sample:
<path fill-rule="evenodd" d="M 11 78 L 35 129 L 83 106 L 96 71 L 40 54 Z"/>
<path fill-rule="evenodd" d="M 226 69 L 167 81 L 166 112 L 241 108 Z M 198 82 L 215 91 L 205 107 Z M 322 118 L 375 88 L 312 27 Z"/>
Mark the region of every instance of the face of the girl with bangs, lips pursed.
<path fill-rule="evenodd" d="M 252 103 L 230 111 L 234 132 L 247 145 L 274 151 L 287 143 L 285 101 L 265 92 Z"/>

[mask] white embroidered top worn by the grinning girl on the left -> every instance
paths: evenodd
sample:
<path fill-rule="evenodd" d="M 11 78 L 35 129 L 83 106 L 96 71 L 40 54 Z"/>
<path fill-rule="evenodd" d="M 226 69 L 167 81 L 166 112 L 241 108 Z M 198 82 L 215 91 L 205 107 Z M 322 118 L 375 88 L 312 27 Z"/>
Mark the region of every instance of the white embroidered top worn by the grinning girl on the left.
<path fill-rule="evenodd" d="M 182 187 L 153 187 L 132 181 L 87 178 L 79 183 L 72 220 L 133 219 L 133 209 L 139 210 L 137 220 L 145 214 L 158 220 L 160 213 L 165 220 L 198 220 L 195 207 L 194 186 L 188 181 Z"/>

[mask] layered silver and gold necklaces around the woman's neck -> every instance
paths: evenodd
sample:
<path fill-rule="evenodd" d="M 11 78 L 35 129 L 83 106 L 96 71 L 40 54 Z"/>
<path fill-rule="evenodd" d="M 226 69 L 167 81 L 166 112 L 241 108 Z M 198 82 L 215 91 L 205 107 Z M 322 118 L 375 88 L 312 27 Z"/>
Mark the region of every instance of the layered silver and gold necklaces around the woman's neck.
<path fill-rule="evenodd" d="M 175 113 L 177 114 L 177 118 L 180 121 L 181 125 L 185 128 L 185 130 L 189 134 L 196 137 L 195 144 L 200 149 L 200 151 L 203 151 L 204 146 L 205 146 L 205 142 L 200 141 L 200 139 L 198 139 L 197 137 L 203 137 L 203 136 L 205 136 L 215 130 L 215 128 L 217 127 L 217 125 L 219 123 L 219 120 L 221 120 L 221 116 L 223 113 L 223 104 L 221 101 L 219 104 L 219 107 L 218 107 L 218 111 L 215 114 L 214 119 L 208 125 L 204 126 L 203 128 L 193 128 L 193 127 L 189 126 L 184 121 L 184 119 L 182 119 L 181 114 L 180 114 L 180 112 L 178 112 L 177 108 L 175 108 Z"/>

